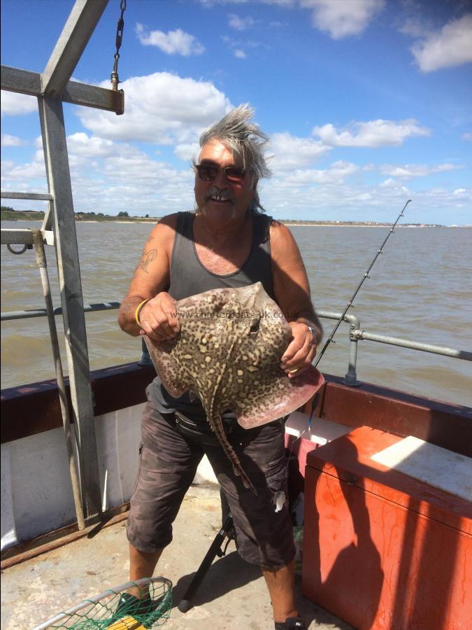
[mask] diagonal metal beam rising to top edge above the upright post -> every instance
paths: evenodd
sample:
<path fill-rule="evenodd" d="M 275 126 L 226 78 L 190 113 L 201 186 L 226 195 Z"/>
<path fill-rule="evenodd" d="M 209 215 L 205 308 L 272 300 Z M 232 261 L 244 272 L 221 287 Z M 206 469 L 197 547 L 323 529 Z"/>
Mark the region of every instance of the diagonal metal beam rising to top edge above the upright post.
<path fill-rule="evenodd" d="M 76 0 L 41 76 L 42 93 L 60 97 L 108 0 Z"/>

